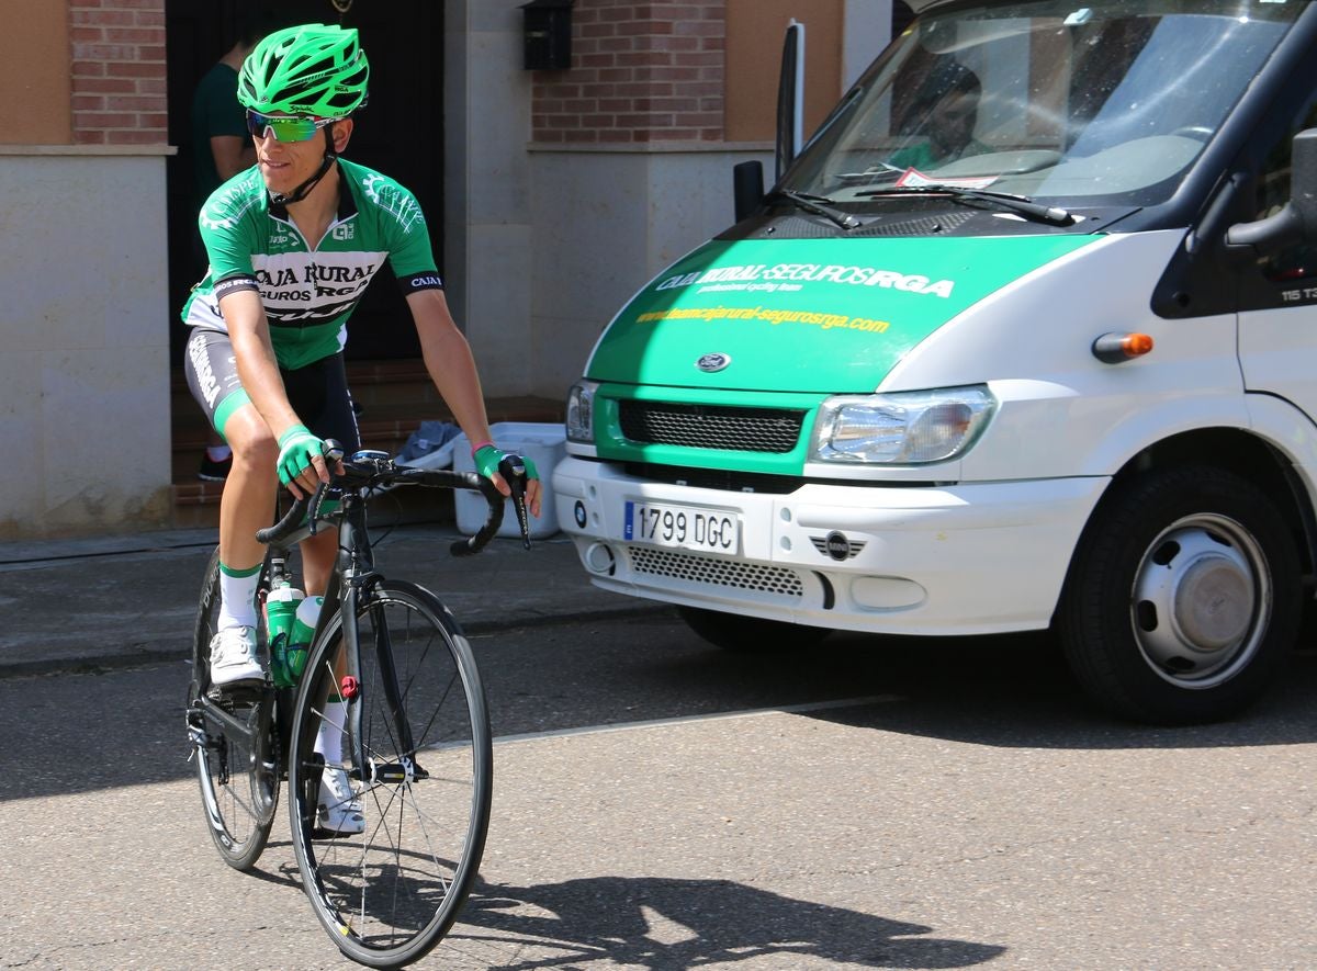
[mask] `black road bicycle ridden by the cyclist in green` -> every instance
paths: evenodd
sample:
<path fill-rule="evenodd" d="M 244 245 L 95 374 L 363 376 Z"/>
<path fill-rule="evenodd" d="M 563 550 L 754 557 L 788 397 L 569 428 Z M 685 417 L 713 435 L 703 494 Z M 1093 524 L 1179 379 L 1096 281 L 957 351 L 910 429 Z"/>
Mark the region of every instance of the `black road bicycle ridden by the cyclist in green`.
<path fill-rule="evenodd" d="M 327 443 L 333 462 L 342 457 Z M 337 525 L 338 557 L 325 589 L 306 670 L 294 688 L 266 683 L 213 688 L 209 643 L 219 601 L 219 550 L 202 587 L 192 646 L 187 726 L 208 830 L 225 863 L 250 870 L 270 837 L 287 779 L 288 821 L 303 888 L 321 926 L 353 960 L 400 967 L 435 947 L 465 901 L 485 847 L 493 743 L 479 671 L 446 607 L 428 589 L 377 571 L 366 530 L 367 499 L 381 488 L 471 488 L 489 503 L 475 535 L 454 555 L 479 551 L 498 532 L 503 496 L 475 472 L 396 466 L 358 451 L 315 496 L 294 503 L 257 535 L 269 545 L 262 599 L 287 570 L 287 555 L 324 522 Z M 504 459 L 522 539 L 529 549 L 524 466 Z M 520 475 L 519 475 L 520 472 Z M 337 497 L 331 509 L 327 499 Z M 269 660 L 261 612 L 258 642 Z M 344 713 L 344 760 L 362 803 L 365 832 L 317 826 L 315 751 L 327 701 Z"/>

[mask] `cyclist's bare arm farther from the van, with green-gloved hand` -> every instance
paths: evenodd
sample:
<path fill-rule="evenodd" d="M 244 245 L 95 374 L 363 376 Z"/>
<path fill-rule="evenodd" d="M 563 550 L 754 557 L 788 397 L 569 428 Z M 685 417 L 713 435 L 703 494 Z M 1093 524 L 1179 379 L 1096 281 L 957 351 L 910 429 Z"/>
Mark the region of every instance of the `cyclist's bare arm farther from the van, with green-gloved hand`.
<path fill-rule="evenodd" d="M 302 425 L 298 413 L 288 404 L 288 395 L 279 376 L 279 364 L 270 342 L 270 322 L 265 316 L 261 292 L 253 288 L 234 288 L 220 297 L 220 313 L 229 330 L 233 343 L 234 363 L 242 389 L 252 399 L 253 407 L 265 418 L 275 439 L 288 429 Z M 329 470 L 321 457 L 316 455 L 311 466 L 288 486 L 295 496 L 303 491 L 311 493 L 319 482 L 329 480 Z"/>

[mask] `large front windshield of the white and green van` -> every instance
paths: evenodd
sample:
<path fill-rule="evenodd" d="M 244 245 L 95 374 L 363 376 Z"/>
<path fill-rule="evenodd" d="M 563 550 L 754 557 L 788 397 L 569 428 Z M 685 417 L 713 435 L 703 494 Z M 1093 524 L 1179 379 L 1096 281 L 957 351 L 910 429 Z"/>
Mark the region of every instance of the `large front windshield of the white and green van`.
<path fill-rule="evenodd" d="M 928 13 L 780 188 L 836 203 L 950 184 L 1154 205 L 1229 116 L 1303 0 L 1036 0 Z"/>

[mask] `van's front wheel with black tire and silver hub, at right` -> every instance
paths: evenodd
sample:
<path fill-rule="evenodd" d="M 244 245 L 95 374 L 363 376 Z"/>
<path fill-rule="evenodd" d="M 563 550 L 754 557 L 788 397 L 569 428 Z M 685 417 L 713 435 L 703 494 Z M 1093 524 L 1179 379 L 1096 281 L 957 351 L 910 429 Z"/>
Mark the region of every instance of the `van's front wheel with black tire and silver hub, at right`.
<path fill-rule="evenodd" d="M 1210 466 L 1117 483 L 1084 532 L 1058 610 L 1080 685 L 1159 725 L 1218 721 L 1280 674 L 1301 574 L 1275 503 Z"/>

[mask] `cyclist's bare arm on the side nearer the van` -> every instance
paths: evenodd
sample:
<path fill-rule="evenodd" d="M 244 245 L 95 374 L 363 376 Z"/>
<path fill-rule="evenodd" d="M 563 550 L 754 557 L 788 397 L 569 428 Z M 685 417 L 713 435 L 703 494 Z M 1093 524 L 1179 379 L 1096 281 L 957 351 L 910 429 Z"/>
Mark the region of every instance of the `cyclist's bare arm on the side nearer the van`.
<path fill-rule="evenodd" d="M 485 396 L 471 347 L 453 322 L 448 300 L 441 289 L 419 289 L 407 295 L 425 370 L 457 418 L 458 426 L 473 445 L 489 442 L 490 426 L 485 413 Z M 490 476 L 504 496 L 511 489 L 502 475 Z M 540 482 L 531 479 L 525 488 L 525 505 L 532 516 L 540 514 Z"/>

